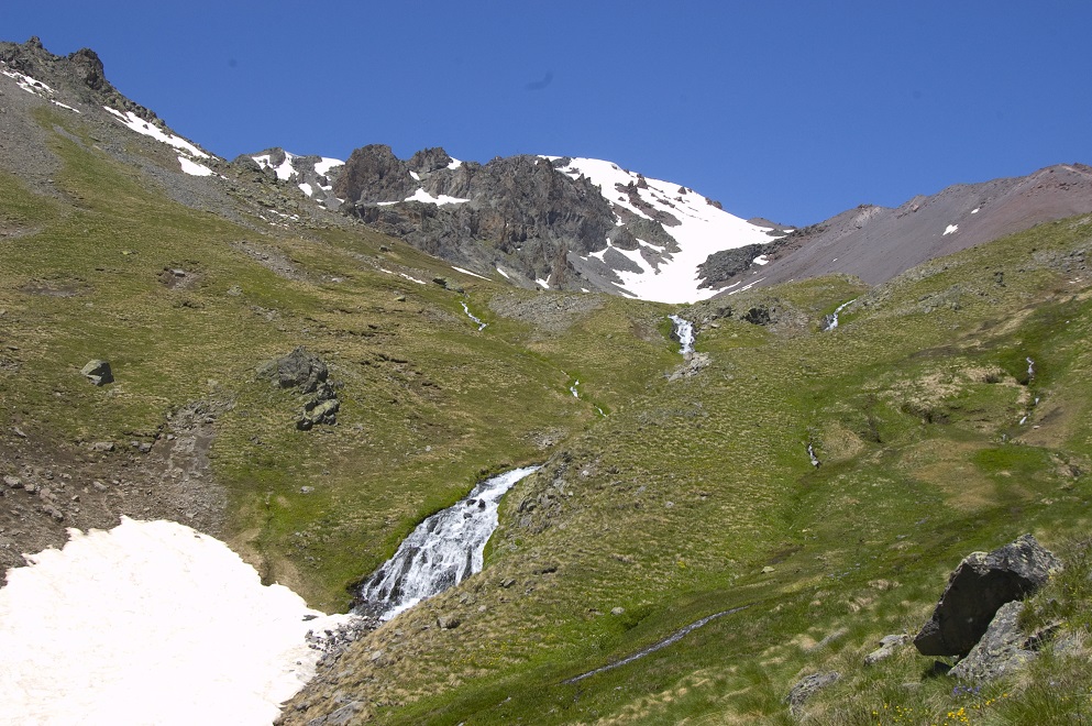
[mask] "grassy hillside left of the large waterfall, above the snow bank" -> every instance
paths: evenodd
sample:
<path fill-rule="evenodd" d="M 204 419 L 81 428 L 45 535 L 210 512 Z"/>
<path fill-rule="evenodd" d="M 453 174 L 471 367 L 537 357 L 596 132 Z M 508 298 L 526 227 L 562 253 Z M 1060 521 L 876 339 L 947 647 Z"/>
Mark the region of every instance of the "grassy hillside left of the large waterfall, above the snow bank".
<path fill-rule="evenodd" d="M 174 408 L 227 404 L 212 465 L 229 491 L 230 539 L 268 580 L 291 584 L 312 605 L 343 608 L 349 583 L 483 470 L 540 461 L 543 439 L 598 417 L 569 393 L 572 359 L 559 358 L 556 336 L 530 336 L 497 316 L 478 332 L 463 314 L 460 299 L 486 315 L 506 285 L 462 279 L 366 231 L 263 234 L 187 209 L 93 148 L 78 120 L 49 111 L 40 120 L 66 127 L 52 136 L 64 162 L 55 182 L 75 204 L 0 177 L 4 222 L 36 230 L 3 242 L 4 343 L 18 349 L 20 366 L 0 375 L 0 424 L 65 447 L 152 437 Z M 290 261 L 296 279 L 244 248 Z M 167 289 L 165 267 L 190 279 L 197 273 L 198 282 Z M 467 294 L 380 270 L 459 278 Z M 604 406 L 620 406 L 676 358 L 665 339 L 630 332 L 662 315 L 658 306 L 607 301 L 585 317 L 588 330 L 617 328 L 615 342 L 587 358 L 609 382 L 586 386 Z M 301 402 L 256 376 L 262 363 L 301 344 L 341 383 L 337 427 L 296 431 Z M 92 358 L 110 360 L 118 383 L 89 386 L 78 372 Z"/>

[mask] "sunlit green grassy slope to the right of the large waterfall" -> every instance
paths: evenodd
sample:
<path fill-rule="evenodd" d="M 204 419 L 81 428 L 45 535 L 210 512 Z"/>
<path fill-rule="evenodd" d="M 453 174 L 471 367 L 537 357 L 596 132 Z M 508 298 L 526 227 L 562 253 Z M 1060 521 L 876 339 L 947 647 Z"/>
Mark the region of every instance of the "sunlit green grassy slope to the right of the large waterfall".
<path fill-rule="evenodd" d="M 868 721 L 922 694 L 931 711 L 918 715 L 944 717 L 956 696 L 923 678 L 929 661 L 860 661 L 920 626 L 967 552 L 1024 531 L 1065 547 L 1087 528 L 1074 472 L 1090 465 L 1092 302 L 1065 267 L 1090 233 L 1088 219 L 1062 221 L 934 262 L 830 333 L 707 327 L 708 369 L 657 384 L 518 485 L 486 573 L 361 644 L 337 666 L 351 675 L 300 700 L 306 717 L 340 696 L 390 723 L 777 722 L 790 685 L 824 669 L 848 675 L 809 703 L 816 717 Z M 817 321 L 858 290 L 777 294 Z M 460 626 L 439 629 L 441 612 Z M 1004 718 L 1015 703 L 985 711 Z"/>

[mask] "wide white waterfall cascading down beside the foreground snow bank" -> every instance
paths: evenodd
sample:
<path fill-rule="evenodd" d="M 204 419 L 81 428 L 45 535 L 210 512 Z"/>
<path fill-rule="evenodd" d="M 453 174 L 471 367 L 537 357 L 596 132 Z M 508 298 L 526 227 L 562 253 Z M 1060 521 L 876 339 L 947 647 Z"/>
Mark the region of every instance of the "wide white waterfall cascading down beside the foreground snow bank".
<path fill-rule="evenodd" d="M 438 512 L 402 540 L 395 556 L 361 586 L 359 609 L 389 620 L 398 613 L 482 571 L 485 544 L 497 528 L 500 497 L 539 466 L 487 479 L 466 498 Z"/>

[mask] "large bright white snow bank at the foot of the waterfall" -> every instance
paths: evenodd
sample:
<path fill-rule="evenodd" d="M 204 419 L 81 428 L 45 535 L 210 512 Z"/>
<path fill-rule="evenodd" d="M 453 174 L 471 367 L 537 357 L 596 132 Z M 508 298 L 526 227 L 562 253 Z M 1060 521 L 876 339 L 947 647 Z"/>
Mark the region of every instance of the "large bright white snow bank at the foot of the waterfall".
<path fill-rule="evenodd" d="M 350 617 L 183 525 L 68 531 L 0 590 L 0 723 L 269 724 L 313 674 L 307 631 Z"/>

